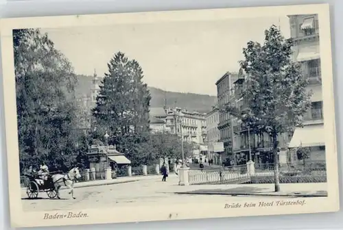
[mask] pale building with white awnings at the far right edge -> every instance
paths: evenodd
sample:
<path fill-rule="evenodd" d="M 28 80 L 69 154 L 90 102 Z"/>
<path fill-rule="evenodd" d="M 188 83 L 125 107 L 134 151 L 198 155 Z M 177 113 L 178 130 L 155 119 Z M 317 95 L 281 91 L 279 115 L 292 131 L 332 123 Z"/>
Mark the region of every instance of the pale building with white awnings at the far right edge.
<path fill-rule="evenodd" d="M 296 127 L 289 148 L 309 147 L 311 151 L 309 161 L 325 162 L 318 14 L 288 17 L 291 37 L 295 42 L 293 60 L 300 63 L 303 76 L 309 79 L 307 90 L 313 93 L 311 109 L 304 117 L 304 127 Z M 294 151 L 290 153 L 289 161 L 297 160 Z"/>

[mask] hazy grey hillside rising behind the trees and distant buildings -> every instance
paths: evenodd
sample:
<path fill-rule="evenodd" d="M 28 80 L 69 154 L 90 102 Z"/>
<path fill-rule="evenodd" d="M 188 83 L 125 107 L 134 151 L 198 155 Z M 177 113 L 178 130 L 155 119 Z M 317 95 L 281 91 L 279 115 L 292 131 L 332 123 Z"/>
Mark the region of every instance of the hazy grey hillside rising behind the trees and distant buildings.
<path fill-rule="evenodd" d="M 75 88 L 77 97 L 81 97 L 82 94 L 90 94 L 92 78 L 91 76 L 78 75 L 78 86 Z M 204 94 L 168 92 L 154 87 L 148 88 L 152 96 L 151 107 L 163 107 L 165 99 L 167 99 L 167 107 L 181 107 L 189 111 L 206 113 L 211 111 L 216 99 L 214 96 Z"/>

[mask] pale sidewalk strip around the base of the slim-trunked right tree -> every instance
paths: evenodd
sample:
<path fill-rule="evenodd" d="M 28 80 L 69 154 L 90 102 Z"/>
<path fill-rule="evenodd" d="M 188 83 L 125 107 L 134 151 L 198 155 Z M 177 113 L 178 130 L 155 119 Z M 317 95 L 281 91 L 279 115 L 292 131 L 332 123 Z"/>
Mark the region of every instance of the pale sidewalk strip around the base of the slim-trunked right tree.
<path fill-rule="evenodd" d="M 173 186 L 172 190 L 174 194 L 320 197 L 327 196 L 327 183 L 281 183 L 280 192 L 274 192 L 273 183 Z"/>

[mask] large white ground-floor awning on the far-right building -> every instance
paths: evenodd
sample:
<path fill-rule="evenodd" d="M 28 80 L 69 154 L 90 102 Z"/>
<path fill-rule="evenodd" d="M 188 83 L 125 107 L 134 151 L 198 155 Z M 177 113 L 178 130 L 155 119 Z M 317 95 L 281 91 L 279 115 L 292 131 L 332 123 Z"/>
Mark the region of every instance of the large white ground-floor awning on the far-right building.
<path fill-rule="evenodd" d="M 289 148 L 324 146 L 324 125 L 305 125 L 303 128 L 296 127 Z"/>

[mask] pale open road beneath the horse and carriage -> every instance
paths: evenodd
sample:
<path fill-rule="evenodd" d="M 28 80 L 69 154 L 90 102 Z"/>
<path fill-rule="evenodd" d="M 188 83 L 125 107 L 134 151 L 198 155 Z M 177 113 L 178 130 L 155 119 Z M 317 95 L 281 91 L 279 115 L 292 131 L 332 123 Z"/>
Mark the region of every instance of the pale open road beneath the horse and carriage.
<path fill-rule="evenodd" d="M 22 192 L 24 211 L 49 211 L 66 209 L 84 209 L 90 207 L 118 207 L 175 203 L 196 203 L 203 199 L 211 199 L 213 202 L 236 202 L 252 201 L 256 198 L 243 196 L 209 196 L 209 195 L 181 195 L 168 191 L 177 190 L 178 178 L 171 175 L 167 182 L 160 179 L 147 179 L 129 183 L 119 183 L 110 186 L 96 186 L 77 188 L 74 190 L 76 199 L 71 199 L 68 190 L 61 190 L 62 199 L 48 199 L 45 193 L 39 194 L 40 199 L 26 199 L 25 191 Z M 184 187 L 184 186 L 182 186 Z M 273 199 L 272 197 L 265 199 Z M 281 198 L 282 199 L 282 198 Z"/>

